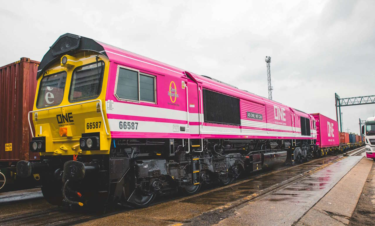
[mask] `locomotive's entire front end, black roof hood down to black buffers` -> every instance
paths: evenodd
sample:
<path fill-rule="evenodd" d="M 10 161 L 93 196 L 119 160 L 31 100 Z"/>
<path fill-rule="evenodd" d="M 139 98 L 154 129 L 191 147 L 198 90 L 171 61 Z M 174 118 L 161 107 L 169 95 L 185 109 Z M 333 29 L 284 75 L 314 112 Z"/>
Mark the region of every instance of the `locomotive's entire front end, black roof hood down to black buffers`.
<path fill-rule="evenodd" d="M 39 174 L 43 196 L 53 205 L 108 198 L 109 173 L 103 169 L 111 147 L 104 107 L 110 61 L 101 49 L 92 39 L 65 34 L 38 68 L 29 124 L 30 150 L 41 159 L 18 162 L 17 175 Z"/>

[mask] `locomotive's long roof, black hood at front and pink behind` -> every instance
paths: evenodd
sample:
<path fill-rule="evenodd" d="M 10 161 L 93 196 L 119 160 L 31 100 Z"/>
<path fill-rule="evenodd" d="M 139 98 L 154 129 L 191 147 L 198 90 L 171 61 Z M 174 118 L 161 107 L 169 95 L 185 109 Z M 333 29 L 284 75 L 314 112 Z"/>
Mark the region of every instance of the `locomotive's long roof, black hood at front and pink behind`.
<path fill-rule="evenodd" d="M 247 90 L 240 90 L 239 88 L 233 85 L 219 81 L 209 76 L 197 75 L 195 73 L 188 72 L 178 67 L 171 66 L 169 64 L 162 63 L 160 61 L 153 60 L 148 57 L 144 57 L 142 55 L 118 48 L 113 45 L 109 45 L 104 42 L 99 42 L 94 39 L 90 39 L 87 37 L 82 37 L 82 36 L 78 36 L 78 35 L 70 34 L 70 33 L 63 34 L 52 44 L 51 47 L 49 47 L 48 52 L 46 52 L 46 54 L 43 56 L 42 61 L 40 61 L 38 72 L 37 72 L 37 79 L 42 75 L 42 72 L 52 62 L 61 58 L 63 55 L 75 54 L 76 52 L 85 51 L 85 50 L 98 52 L 98 54 L 105 55 L 110 60 L 114 60 L 115 58 L 119 58 L 119 57 L 132 59 L 132 60 L 147 64 L 148 67 L 150 67 L 150 69 L 151 67 L 154 70 L 155 68 L 157 68 L 159 70 L 159 73 L 162 73 L 162 74 L 168 74 L 168 75 L 177 76 L 177 77 L 181 77 L 181 75 L 191 76 L 192 79 L 194 79 L 196 82 L 204 83 L 208 86 L 214 85 L 216 86 L 218 90 L 227 90 L 226 93 L 229 95 L 235 93 L 237 97 L 241 97 L 244 99 L 249 99 L 249 97 L 251 97 L 252 101 L 258 100 L 258 102 L 260 102 L 261 104 L 264 104 L 264 102 L 268 102 L 271 104 L 289 108 L 289 106 L 276 102 L 275 100 L 267 99 L 266 97 L 259 96 Z M 230 91 L 230 93 L 228 93 L 228 90 Z M 299 111 L 297 109 L 294 109 L 294 110 Z M 299 111 L 299 112 L 302 114 L 309 115 L 303 111 Z"/>

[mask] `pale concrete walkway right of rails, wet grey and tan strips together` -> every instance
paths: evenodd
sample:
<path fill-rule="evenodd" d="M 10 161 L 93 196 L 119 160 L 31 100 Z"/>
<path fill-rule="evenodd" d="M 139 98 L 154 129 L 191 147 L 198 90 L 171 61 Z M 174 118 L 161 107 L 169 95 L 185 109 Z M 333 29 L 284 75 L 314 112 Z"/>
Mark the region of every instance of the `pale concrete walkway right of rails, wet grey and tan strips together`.
<path fill-rule="evenodd" d="M 347 225 L 373 163 L 361 159 L 351 156 L 333 163 L 247 203 L 218 225 Z"/>

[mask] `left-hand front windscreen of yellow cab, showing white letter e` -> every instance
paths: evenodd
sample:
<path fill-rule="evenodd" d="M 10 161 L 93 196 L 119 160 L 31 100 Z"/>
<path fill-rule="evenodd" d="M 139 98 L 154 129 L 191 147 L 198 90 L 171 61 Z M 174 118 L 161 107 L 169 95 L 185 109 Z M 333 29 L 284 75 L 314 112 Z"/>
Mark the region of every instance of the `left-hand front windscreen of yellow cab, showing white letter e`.
<path fill-rule="evenodd" d="M 44 76 L 39 85 L 37 108 L 59 105 L 63 100 L 66 72 Z"/>

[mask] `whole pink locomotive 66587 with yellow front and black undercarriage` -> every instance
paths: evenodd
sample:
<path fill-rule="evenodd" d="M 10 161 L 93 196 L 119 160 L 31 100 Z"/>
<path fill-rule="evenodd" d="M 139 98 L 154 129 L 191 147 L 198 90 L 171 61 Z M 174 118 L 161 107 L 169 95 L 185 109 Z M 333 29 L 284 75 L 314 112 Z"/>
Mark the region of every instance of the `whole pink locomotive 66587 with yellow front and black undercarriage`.
<path fill-rule="evenodd" d="M 86 37 L 60 36 L 37 80 L 30 149 L 41 160 L 18 162 L 17 175 L 39 173 L 55 205 L 144 206 L 317 150 L 313 115 Z"/>

